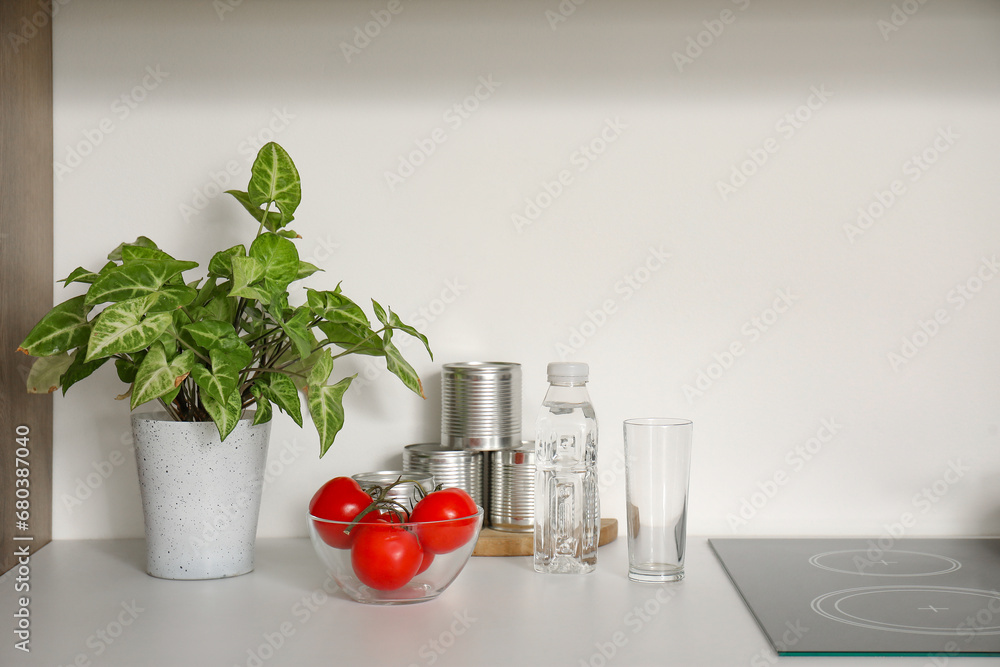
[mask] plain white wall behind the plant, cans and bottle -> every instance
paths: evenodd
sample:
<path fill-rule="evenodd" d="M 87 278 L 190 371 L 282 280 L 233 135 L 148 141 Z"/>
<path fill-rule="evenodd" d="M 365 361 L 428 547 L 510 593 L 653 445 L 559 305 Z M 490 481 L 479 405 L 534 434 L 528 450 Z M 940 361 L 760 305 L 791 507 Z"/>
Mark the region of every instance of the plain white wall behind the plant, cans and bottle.
<path fill-rule="evenodd" d="M 407 348 L 426 402 L 373 366 L 323 460 L 310 425 L 275 420 L 260 535 L 304 534 L 323 481 L 436 439 L 440 364 L 521 362 L 527 429 L 566 346 L 591 364 L 609 516 L 622 420 L 686 416 L 692 533 L 878 535 L 910 516 L 911 535 L 1000 534 L 1000 5 L 590 0 L 553 28 L 556 0 L 404 0 L 348 62 L 341 42 L 387 2 L 225 2 L 56 15 L 54 277 L 139 234 L 207 262 L 254 231 L 213 174 L 231 163 L 242 188 L 272 134 L 291 153 L 299 251 L 325 270 L 310 285 L 424 320 L 435 359 Z M 688 38 L 707 46 L 679 67 Z M 496 89 L 455 127 L 481 79 Z M 893 364 L 904 339 L 919 349 Z M 142 533 L 121 391 L 106 370 L 56 400 L 58 538 Z"/>

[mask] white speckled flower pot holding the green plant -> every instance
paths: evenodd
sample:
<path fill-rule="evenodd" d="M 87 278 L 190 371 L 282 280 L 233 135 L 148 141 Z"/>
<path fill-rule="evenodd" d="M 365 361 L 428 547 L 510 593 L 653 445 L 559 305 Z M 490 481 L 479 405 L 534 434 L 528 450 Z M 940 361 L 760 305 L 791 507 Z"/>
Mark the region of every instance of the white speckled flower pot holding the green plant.
<path fill-rule="evenodd" d="M 243 419 L 225 442 L 212 422 L 132 415 L 146 523 L 146 571 L 219 579 L 253 570 L 270 422 Z"/>

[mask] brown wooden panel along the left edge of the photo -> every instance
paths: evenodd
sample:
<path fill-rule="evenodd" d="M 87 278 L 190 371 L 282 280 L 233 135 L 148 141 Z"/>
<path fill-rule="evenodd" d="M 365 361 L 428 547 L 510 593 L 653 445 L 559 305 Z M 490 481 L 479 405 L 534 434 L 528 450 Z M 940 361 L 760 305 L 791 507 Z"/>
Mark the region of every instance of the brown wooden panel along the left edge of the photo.
<path fill-rule="evenodd" d="M 15 352 L 52 307 L 52 17 L 45 7 L 0 1 L 0 572 L 16 563 L 17 547 L 34 551 L 52 539 L 52 397 L 25 392 L 32 360 Z M 25 432 L 26 530 L 15 515 L 17 439 Z"/>

